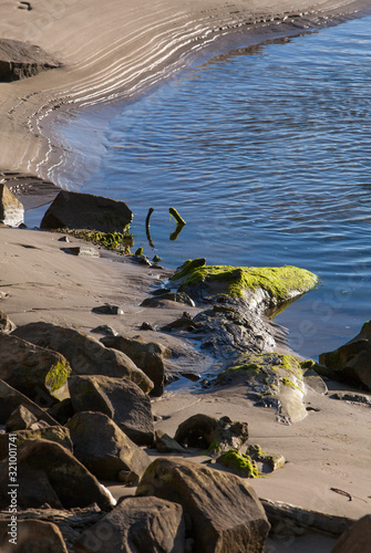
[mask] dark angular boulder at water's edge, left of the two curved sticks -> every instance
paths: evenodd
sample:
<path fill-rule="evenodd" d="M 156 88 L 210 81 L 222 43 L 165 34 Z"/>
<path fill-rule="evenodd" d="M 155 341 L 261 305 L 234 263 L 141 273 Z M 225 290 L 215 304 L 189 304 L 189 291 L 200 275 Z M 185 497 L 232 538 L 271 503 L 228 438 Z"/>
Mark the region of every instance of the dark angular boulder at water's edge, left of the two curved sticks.
<path fill-rule="evenodd" d="M 40 228 L 120 231 L 131 223 L 133 213 L 124 201 L 91 194 L 61 190 L 47 210 Z"/>

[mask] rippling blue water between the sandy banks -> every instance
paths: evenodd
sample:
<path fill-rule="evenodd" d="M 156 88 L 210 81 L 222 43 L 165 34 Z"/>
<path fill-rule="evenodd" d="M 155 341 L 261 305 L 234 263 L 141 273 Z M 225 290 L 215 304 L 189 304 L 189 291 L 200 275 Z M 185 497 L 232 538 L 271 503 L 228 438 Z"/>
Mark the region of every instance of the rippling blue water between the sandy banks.
<path fill-rule="evenodd" d="M 370 23 L 238 50 L 110 107 L 96 170 L 82 187 L 125 200 L 135 248 L 166 267 L 206 257 L 317 273 L 321 286 L 276 316 L 290 345 L 315 358 L 370 319 Z M 94 113 L 60 132 L 89 149 L 86 127 Z M 187 221 L 175 241 L 171 206 Z"/>

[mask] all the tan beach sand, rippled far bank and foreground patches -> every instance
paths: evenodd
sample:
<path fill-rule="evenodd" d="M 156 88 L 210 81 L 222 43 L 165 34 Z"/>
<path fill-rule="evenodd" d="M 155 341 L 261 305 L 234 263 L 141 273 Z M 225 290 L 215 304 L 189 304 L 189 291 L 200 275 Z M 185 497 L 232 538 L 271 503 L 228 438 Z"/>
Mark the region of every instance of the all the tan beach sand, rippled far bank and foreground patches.
<path fill-rule="evenodd" d="M 154 0 L 141 2 L 138 9 L 134 0 L 31 0 L 31 11 L 18 6 L 16 0 L 1 2 L 0 36 L 37 43 L 63 67 L 0 84 L 0 173 L 50 179 L 66 159 L 63 145 L 53 136 L 56 113 L 69 117 L 78 108 L 143 92 L 188 63 L 189 56 L 216 48 L 241 28 L 250 43 L 259 42 L 272 33 L 326 24 L 329 17 L 347 18 L 364 2 L 282 0 L 278 7 L 270 0 Z M 177 354 L 169 368 L 207 374 L 210 359 L 193 344 L 138 331 L 144 321 L 161 326 L 184 311 L 173 303 L 162 309 L 141 306 L 151 286 L 166 279 L 168 271 L 103 252 L 99 259 L 71 255 L 63 250 L 70 244 L 59 242 L 56 233 L 3 227 L 0 237 L 0 292 L 9 293 L 0 309 L 17 325 L 48 321 L 91 332 L 110 324 L 122 334 L 141 333 L 145 340 L 168 345 Z M 92 312 L 106 302 L 121 305 L 124 315 Z M 329 386 L 340 388 L 337 383 Z M 243 385 L 210 393 L 197 385 L 181 392 L 171 388 L 153 401 L 153 410 L 163 417 L 157 427 L 171 435 L 195 413 L 248 421 L 250 442 L 279 451 L 287 460 L 268 478 L 251 480 L 259 497 L 358 519 L 370 512 L 371 504 L 370 408 L 315 393 L 306 399 L 317 410 L 292 426 L 277 422 L 270 409 L 255 407 Z M 122 487 L 111 488 L 117 495 L 123 493 Z M 330 488 L 349 492 L 352 501 Z M 312 542 L 312 536 L 302 540 L 275 541 L 269 551 L 324 552 L 333 543 Z"/>

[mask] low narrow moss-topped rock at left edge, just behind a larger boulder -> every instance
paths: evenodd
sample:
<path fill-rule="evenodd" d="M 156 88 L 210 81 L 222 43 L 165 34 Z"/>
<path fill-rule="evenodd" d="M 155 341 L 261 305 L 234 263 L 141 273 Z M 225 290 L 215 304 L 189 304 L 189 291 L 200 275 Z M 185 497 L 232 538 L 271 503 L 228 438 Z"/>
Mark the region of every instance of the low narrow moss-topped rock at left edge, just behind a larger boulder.
<path fill-rule="evenodd" d="M 63 426 L 48 426 L 40 429 L 27 429 L 27 430 L 13 430 L 12 435 L 17 435 L 17 439 L 13 440 L 19 447 L 25 440 L 49 440 L 60 444 L 69 451 L 73 452 L 73 446 L 70 437 L 70 430 Z M 9 435 L 0 435 L 0 459 L 8 457 L 9 452 Z"/>

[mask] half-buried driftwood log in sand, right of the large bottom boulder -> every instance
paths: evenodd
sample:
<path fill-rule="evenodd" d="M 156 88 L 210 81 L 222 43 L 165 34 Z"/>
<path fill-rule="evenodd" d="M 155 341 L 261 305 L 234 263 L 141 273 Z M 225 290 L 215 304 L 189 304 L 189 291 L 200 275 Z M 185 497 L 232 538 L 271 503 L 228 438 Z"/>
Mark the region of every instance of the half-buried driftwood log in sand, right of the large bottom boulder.
<path fill-rule="evenodd" d="M 311 531 L 337 538 L 355 522 L 347 517 L 310 511 L 280 501 L 260 501 L 272 526 L 271 532 L 276 534 L 292 535 Z"/>

